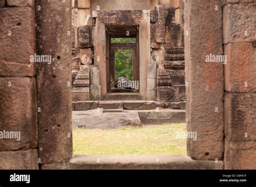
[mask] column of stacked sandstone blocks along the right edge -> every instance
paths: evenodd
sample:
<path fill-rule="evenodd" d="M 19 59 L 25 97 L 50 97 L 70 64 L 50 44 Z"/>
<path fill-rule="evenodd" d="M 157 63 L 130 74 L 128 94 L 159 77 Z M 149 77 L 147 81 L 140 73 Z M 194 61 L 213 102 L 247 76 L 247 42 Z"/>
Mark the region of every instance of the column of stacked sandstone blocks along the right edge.
<path fill-rule="evenodd" d="M 223 0 L 225 169 L 256 169 L 256 3 Z"/>

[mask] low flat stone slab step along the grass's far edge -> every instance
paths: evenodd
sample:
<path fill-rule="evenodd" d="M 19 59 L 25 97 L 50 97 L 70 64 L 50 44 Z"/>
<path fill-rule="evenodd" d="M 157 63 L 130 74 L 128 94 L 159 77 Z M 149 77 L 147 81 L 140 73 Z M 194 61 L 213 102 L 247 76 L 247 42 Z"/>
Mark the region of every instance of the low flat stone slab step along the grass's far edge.
<path fill-rule="evenodd" d="M 185 123 L 185 110 L 87 110 L 72 111 L 73 129 L 118 128 L 120 126 L 142 126 Z"/>

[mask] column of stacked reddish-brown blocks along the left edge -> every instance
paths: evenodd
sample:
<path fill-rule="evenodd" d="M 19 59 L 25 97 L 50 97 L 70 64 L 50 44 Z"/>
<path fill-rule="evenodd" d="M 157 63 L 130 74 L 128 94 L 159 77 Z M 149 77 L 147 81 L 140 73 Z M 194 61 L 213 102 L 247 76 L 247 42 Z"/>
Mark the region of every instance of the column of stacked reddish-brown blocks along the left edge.
<path fill-rule="evenodd" d="M 33 1 L 0 0 L 0 15 L 0 169 L 38 169 Z"/>

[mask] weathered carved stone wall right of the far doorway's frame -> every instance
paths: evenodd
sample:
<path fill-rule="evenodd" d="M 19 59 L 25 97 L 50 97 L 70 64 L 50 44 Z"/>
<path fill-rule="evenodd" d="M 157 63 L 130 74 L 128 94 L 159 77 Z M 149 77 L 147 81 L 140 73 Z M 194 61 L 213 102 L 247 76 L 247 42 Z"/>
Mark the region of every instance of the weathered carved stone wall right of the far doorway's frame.
<path fill-rule="evenodd" d="M 162 5 L 151 11 L 151 58 L 157 63 L 156 97 L 152 100 L 185 109 L 183 1 L 159 3 Z"/>

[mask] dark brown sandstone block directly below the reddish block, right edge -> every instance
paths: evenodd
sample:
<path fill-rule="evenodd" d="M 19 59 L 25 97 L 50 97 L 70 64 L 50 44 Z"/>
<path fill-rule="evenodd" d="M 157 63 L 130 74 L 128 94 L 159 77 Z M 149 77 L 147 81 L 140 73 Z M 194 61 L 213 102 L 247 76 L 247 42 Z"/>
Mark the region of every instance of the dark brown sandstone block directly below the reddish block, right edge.
<path fill-rule="evenodd" d="M 256 140 L 256 93 L 225 95 L 225 136 L 229 141 Z"/>

